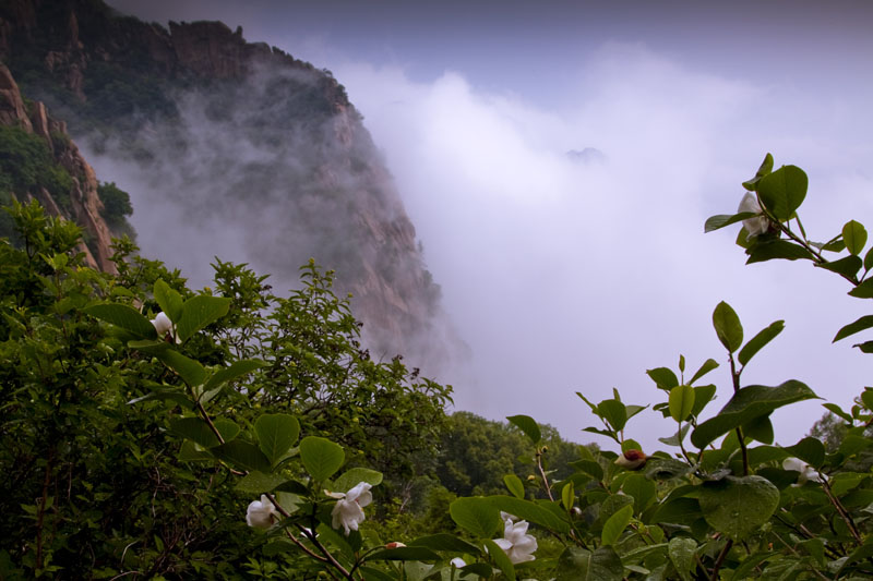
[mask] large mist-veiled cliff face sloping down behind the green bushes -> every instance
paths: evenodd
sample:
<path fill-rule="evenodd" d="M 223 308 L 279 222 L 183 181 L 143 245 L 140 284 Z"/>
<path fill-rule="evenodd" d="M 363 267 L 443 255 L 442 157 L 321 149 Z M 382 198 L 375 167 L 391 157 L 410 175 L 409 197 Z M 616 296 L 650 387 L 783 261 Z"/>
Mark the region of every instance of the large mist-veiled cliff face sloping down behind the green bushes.
<path fill-rule="evenodd" d="M 136 216 L 176 220 L 157 234 L 172 242 L 183 230 L 172 247 L 203 246 L 194 258 L 206 264 L 226 259 L 232 240 L 228 258 L 272 273 L 274 286 L 291 285 L 315 257 L 354 294 L 371 347 L 445 353 L 421 341 L 453 334 L 415 228 L 327 71 L 218 22 L 165 29 L 98 0 L 8 0 L 0 57 L 28 95 L 69 121 L 98 170 L 122 168 L 128 181 L 113 179 Z M 147 225 L 134 226 L 146 251 L 159 247 Z"/>

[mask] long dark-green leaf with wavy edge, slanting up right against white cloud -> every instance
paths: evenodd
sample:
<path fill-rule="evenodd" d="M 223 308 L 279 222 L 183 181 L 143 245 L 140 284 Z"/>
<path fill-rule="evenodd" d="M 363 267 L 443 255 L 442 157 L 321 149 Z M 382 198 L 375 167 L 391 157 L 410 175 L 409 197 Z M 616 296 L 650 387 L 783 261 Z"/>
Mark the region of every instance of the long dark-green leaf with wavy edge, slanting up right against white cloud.
<path fill-rule="evenodd" d="M 767 415 L 777 408 L 796 401 L 817 398 L 818 396 L 812 389 L 796 379 L 789 379 L 778 387 L 763 385 L 743 387 L 733 395 L 730 401 L 718 412 L 718 415 L 699 424 L 691 433 L 691 441 L 697 448 L 704 448 L 717 437 L 751 422 L 755 417 Z"/>

